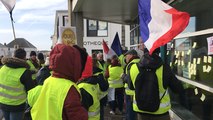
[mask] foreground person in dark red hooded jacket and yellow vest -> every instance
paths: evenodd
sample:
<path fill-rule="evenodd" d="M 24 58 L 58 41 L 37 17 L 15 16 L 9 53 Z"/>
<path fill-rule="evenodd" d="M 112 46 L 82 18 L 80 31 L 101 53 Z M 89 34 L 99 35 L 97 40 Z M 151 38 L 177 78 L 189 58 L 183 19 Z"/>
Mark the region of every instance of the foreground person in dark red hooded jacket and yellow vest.
<path fill-rule="evenodd" d="M 28 93 L 33 120 L 88 120 L 76 85 L 86 58 L 87 53 L 76 45 L 57 44 L 52 49 L 49 65 L 52 76 L 44 81 L 43 86 Z"/>

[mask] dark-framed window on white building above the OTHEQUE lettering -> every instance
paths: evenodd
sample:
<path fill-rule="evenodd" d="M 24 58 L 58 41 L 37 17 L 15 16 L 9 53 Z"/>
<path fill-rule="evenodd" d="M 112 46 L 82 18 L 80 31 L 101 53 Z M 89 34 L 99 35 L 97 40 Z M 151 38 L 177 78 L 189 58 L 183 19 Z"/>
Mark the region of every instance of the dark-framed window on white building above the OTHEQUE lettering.
<path fill-rule="evenodd" d="M 97 20 L 87 20 L 88 37 L 106 37 L 108 36 L 108 23 Z"/>

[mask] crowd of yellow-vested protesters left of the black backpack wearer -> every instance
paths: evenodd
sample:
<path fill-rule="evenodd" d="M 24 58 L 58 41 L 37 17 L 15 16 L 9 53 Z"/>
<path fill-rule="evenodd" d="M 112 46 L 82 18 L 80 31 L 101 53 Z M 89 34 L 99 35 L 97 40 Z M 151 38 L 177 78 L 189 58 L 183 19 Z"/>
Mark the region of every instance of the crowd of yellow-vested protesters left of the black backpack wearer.
<path fill-rule="evenodd" d="M 104 60 L 102 53 L 90 56 L 77 45 L 57 44 L 48 56 L 31 51 L 26 57 L 21 48 L 13 57 L 1 57 L 0 108 L 5 120 L 104 120 L 105 107 L 127 120 L 143 114 L 134 110 L 135 91 L 127 76 L 141 60 L 136 50 Z"/>

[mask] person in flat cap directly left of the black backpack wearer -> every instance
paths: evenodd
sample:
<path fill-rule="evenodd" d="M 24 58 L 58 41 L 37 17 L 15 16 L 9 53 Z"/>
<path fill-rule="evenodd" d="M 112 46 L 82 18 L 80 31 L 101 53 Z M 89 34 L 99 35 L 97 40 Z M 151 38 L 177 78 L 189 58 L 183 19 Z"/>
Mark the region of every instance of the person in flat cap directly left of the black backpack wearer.
<path fill-rule="evenodd" d="M 127 84 L 127 81 L 130 81 L 129 70 L 134 63 L 138 63 L 140 58 L 137 54 L 137 51 L 132 49 L 127 51 L 125 54 L 125 60 L 127 65 L 124 67 L 124 88 L 125 88 L 125 100 L 126 100 L 126 119 L 127 120 L 136 120 L 136 113 L 132 109 L 132 98 L 134 95 L 134 90 L 130 90 Z"/>

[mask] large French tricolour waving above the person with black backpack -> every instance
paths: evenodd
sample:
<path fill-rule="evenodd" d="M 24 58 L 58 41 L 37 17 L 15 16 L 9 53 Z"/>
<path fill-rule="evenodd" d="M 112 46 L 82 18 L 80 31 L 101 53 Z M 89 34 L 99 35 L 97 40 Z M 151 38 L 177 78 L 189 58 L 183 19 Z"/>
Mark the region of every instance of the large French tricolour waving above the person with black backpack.
<path fill-rule="evenodd" d="M 138 15 L 141 38 L 150 54 L 181 33 L 190 18 L 161 0 L 138 0 Z"/>

